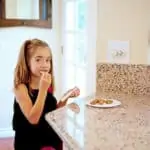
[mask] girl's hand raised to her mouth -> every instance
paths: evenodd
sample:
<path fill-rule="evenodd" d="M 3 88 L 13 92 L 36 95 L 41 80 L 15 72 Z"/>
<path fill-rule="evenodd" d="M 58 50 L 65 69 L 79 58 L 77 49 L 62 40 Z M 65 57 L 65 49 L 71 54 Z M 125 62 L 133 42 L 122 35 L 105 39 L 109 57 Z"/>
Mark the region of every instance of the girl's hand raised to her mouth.
<path fill-rule="evenodd" d="M 51 85 L 51 74 L 47 73 L 47 72 L 42 72 L 41 73 L 41 79 L 40 79 L 40 85 L 39 85 L 39 89 L 43 89 L 46 90 L 49 88 L 49 86 Z"/>

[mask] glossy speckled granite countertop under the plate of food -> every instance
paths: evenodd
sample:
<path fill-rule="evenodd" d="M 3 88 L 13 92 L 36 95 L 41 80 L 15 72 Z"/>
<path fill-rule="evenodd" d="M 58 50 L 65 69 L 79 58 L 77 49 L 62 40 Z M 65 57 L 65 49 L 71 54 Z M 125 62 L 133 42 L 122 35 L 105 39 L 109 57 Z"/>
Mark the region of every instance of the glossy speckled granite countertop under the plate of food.
<path fill-rule="evenodd" d="M 150 150 L 150 99 L 97 93 L 98 97 L 120 100 L 115 108 L 92 108 L 87 101 L 95 97 L 77 98 L 71 104 L 50 112 L 46 120 L 71 150 Z"/>

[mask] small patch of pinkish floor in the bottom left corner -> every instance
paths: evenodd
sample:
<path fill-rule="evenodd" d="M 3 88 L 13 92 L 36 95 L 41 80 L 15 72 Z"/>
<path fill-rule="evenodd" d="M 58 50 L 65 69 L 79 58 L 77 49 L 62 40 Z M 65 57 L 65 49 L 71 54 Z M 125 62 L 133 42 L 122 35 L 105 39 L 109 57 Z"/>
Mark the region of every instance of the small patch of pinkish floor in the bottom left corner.
<path fill-rule="evenodd" d="M 0 138 L 0 150 L 13 150 L 13 138 Z"/>

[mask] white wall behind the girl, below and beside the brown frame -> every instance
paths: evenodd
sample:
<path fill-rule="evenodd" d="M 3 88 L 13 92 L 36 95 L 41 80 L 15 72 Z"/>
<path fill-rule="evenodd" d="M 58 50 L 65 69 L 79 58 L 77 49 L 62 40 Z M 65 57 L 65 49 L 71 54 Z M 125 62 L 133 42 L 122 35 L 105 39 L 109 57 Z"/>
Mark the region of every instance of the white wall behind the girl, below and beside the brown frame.
<path fill-rule="evenodd" d="M 53 2 L 53 29 L 28 27 L 0 28 L 0 137 L 11 132 L 13 93 L 13 70 L 22 42 L 40 38 L 49 43 L 54 56 L 56 97 L 60 98 L 61 53 L 60 53 L 60 12 L 59 0 Z"/>

